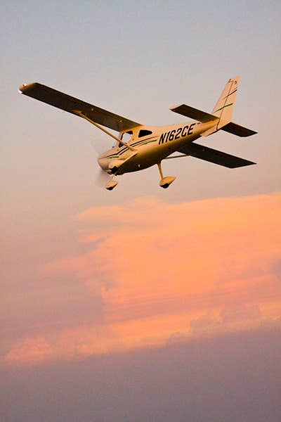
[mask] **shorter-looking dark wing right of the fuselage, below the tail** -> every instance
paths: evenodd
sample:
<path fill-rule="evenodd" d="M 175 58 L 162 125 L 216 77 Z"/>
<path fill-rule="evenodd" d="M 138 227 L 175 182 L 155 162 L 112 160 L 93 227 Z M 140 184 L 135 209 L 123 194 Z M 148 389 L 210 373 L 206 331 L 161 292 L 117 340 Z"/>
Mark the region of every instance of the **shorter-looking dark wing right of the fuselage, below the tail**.
<path fill-rule="evenodd" d="M 207 148 L 207 146 L 199 145 L 198 143 L 190 143 L 190 145 L 183 146 L 183 148 L 180 148 L 178 151 L 186 155 L 191 155 L 195 158 L 200 158 L 200 160 L 223 165 L 224 167 L 228 167 L 230 169 L 256 164 L 256 162 L 244 160 L 244 158 L 235 157 L 235 155 L 222 153 L 221 151 Z"/>

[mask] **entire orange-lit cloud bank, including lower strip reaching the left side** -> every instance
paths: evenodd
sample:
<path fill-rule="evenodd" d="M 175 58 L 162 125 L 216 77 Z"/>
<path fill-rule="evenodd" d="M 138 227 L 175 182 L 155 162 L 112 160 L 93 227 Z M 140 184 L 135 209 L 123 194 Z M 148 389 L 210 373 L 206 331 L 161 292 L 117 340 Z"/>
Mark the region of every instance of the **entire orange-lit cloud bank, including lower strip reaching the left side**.
<path fill-rule="evenodd" d="M 43 271 L 75 274 L 100 295 L 103 324 L 63 331 L 50 345 L 25 340 L 6 361 L 151 347 L 175 333 L 231 331 L 277 319 L 280 204 L 280 193 L 176 204 L 141 198 L 82 212 L 75 219 L 89 252 Z"/>

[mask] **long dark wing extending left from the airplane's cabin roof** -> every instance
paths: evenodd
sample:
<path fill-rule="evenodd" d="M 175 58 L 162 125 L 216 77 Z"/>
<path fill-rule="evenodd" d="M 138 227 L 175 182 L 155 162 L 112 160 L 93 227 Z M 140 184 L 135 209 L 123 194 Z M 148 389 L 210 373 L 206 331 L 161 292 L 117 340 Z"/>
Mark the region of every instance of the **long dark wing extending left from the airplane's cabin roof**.
<path fill-rule="evenodd" d="M 126 117 L 116 115 L 110 111 L 103 110 L 103 108 L 85 103 L 85 101 L 81 101 L 78 98 L 74 98 L 70 95 L 64 94 L 63 92 L 56 91 L 56 89 L 46 87 L 38 82 L 22 85 L 20 87 L 20 92 L 75 115 L 77 115 L 77 110 L 79 110 L 86 114 L 87 117 L 94 122 L 116 130 L 117 132 L 122 132 L 141 125 L 140 123 L 126 119 Z"/>

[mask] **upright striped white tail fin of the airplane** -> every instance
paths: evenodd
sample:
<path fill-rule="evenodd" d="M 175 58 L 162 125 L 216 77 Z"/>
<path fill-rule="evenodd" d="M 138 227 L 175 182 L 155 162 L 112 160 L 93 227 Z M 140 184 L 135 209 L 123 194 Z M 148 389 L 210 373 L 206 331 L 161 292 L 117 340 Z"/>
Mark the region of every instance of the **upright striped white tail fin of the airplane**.
<path fill-rule="evenodd" d="M 238 76 L 229 79 L 220 98 L 218 98 L 214 110 L 211 112 L 212 115 L 219 119 L 216 126 L 217 130 L 232 120 L 239 79 Z"/>

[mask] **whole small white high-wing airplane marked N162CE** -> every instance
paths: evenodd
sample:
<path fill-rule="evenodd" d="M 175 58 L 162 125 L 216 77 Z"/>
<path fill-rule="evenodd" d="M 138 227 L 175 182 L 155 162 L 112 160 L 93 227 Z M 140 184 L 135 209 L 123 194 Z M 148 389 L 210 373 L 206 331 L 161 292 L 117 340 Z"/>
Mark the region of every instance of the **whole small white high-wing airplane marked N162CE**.
<path fill-rule="evenodd" d="M 98 157 L 98 164 L 102 170 L 111 175 L 105 186 L 111 191 L 118 183 L 114 179 L 115 176 L 137 172 L 152 165 L 157 165 L 159 168 L 161 176 L 159 186 L 167 188 L 176 177 L 164 177 L 161 162 L 170 158 L 191 155 L 229 168 L 256 164 L 194 142 L 196 139 L 214 134 L 220 129 L 237 136 L 250 136 L 257 133 L 231 121 L 238 82 L 239 77 L 228 80 L 211 114 L 181 104 L 181 106 L 172 107 L 170 110 L 196 121 L 161 127 L 144 126 L 133 122 L 126 117 L 92 106 L 38 82 L 23 84 L 20 87 L 20 92 L 83 117 L 115 139 L 115 146 Z M 119 136 L 108 132 L 105 127 L 119 132 Z M 181 155 L 171 155 L 175 152 L 179 152 Z"/>

